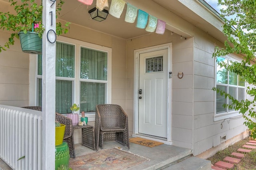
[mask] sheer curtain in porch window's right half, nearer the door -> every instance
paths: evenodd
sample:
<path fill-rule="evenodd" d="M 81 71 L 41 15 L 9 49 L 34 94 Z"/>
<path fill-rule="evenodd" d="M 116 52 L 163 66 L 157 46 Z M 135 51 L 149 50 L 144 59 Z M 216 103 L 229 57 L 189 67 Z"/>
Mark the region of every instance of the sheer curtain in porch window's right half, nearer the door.
<path fill-rule="evenodd" d="M 106 101 L 107 53 L 81 47 L 80 57 L 80 111 L 95 112 L 96 105 Z"/>

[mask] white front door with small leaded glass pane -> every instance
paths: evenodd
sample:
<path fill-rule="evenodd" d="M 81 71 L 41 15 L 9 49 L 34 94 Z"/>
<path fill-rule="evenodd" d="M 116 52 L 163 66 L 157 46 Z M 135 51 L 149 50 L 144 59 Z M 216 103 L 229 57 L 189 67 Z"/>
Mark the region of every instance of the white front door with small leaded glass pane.
<path fill-rule="evenodd" d="M 168 49 L 139 55 L 138 132 L 167 138 Z"/>

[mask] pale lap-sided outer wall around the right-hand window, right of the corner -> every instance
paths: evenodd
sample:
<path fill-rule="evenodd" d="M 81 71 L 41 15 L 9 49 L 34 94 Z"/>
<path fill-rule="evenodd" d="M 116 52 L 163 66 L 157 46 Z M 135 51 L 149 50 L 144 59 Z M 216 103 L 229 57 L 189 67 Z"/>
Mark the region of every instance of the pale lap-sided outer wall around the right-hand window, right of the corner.
<path fill-rule="evenodd" d="M 242 118 L 213 121 L 215 59 L 212 53 L 215 40 L 200 34 L 195 38 L 194 47 L 194 155 L 218 146 L 223 142 L 220 136 L 224 134 L 228 140 L 246 130 Z"/>

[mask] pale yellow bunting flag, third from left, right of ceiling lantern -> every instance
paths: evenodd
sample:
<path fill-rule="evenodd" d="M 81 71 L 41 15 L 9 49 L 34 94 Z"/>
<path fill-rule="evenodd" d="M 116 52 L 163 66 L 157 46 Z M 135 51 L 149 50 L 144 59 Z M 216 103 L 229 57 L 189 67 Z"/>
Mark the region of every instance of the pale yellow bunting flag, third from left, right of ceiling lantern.
<path fill-rule="evenodd" d="M 112 0 L 110 9 L 109 9 L 109 14 L 116 18 L 120 18 L 124 10 L 124 5 L 125 5 L 124 0 Z"/>

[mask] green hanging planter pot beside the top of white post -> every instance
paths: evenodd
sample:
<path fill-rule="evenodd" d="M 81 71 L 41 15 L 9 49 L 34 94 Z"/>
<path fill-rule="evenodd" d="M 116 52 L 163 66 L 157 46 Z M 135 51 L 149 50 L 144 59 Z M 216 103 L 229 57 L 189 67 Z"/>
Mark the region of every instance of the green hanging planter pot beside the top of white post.
<path fill-rule="evenodd" d="M 42 53 L 42 38 L 36 32 L 27 32 L 27 34 L 19 32 L 18 35 L 23 52 L 30 54 Z"/>

